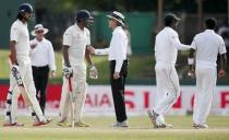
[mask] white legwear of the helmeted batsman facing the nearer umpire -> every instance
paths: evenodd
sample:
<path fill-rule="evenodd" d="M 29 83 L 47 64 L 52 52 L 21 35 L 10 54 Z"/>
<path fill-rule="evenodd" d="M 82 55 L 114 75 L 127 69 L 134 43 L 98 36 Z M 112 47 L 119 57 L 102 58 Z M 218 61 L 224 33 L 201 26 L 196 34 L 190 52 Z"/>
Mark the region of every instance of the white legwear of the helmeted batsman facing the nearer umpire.
<path fill-rule="evenodd" d="M 87 93 L 86 83 L 86 65 L 82 62 L 79 66 L 72 66 L 73 69 L 73 96 L 75 96 L 75 121 L 81 121 L 83 116 L 84 104 Z M 69 110 L 71 106 L 69 82 L 63 77 L 62 93 L 60 101 L 60 121 L 67 120 L 69 117 Z"/>

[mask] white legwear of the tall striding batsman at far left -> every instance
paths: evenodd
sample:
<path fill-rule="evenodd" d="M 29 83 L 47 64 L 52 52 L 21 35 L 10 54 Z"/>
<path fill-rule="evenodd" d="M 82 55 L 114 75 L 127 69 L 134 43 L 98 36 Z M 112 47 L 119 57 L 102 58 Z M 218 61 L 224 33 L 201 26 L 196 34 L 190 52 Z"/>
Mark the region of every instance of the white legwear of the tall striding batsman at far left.
<path fill-rule="evenodd" d="M 24 85 L 27 90 L 27 94 L 20 91 L 14 77 L 10 74 L 10 89 L 7 96 L 5 119 L 7 120 L 10 119 L 11 122 L 16 121 L 17 98 L 20 96 L 20 93 L 22 93 L 23 97 L 29 100 L 29 103 L 26 104 L 28 107 L 31 107 L 29 109 L 32 112 L 35 112 L 39 121 L 44 121 L 46 119 L 45 116 L 43 115 L 43 112 L 36 98 L 36 89 L 34 85 L 34 80 L 32 74 L 31 59 L 29 57 L 17 56 L 17 62 L 19 62 L 19 71 L 24 82 Z"/>

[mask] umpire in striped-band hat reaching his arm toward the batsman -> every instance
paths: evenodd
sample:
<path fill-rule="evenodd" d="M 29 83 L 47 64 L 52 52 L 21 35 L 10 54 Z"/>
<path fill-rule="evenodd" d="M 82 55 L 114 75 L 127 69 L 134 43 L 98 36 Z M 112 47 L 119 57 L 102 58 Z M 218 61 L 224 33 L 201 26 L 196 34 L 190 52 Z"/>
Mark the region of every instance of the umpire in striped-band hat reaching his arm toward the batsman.
<path fill-rule="evenodd" d="M 124 85 L 128 75 L 128 36 L 123 30 L 124 16 L 117 11 L 107 16 L 109 27 L 113 31 L 109 48 L 94 49 L 89 47 L 88 49 L 95 55 L 108 55 L 110 83 L 117 117 L 117 121 L 112 127 L 129 127 L 124 105 Z"/>

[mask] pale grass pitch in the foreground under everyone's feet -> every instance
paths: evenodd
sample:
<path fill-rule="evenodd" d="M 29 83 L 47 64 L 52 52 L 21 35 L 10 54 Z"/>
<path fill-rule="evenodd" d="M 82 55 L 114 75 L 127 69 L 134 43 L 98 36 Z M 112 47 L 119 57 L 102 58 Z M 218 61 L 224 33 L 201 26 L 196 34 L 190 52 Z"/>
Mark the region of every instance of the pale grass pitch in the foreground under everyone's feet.
<path fill-rule="evenodd" d="M 25 127 L 0 127 L 0 140 L 228 140 L 229 117 L 210 116 L 210 128 L 196 130 L 192 128 L 191 116 L 171 116 L 167 121 L 172 129 L 153 129 L 146 116 L 130 117 L 130 128 L 110 128 L 113 117 L 86 117 L 89 128 L 61 128 L 56 126 L 57 119 L 50 125 L 38 128 L 31 127 L 31 119 L 19 117 Z M 0 118 L 2 124 L 3 118 Z"/>

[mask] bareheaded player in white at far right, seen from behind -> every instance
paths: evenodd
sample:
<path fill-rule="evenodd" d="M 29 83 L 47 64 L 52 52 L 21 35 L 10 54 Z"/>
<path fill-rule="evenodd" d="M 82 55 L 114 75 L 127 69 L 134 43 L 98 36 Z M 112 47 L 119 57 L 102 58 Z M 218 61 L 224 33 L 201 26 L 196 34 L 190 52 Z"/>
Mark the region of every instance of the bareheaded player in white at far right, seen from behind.
<path fill-rule="evenodd" d="M 192 45 L 193 48 L 190 52 L 189 65 L 191 65 L 191 74 L 196 75 L 196 88 L 194 98 L 194 114 L 193 114 L 193 127 L 208 128 L 206 125 L 206 118 L 209 114 L 214 89 L 217 80 L 216 61 L 218 54 L 220 55 L 220 67 L 218 77 L 222 78 L 226 74 L 227 69 L 227 55 L 226 46 L 221 36 L 214 32 L 216 27 L 216 20 L 209 18 L 205 20 L 205 31 L 195 35 Z M 195 52 L 195 71 L 194 65 Z"/>

